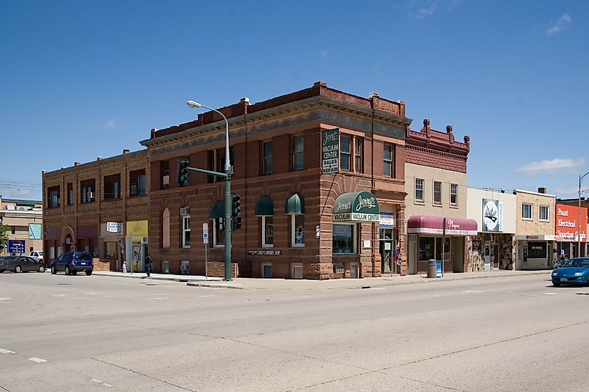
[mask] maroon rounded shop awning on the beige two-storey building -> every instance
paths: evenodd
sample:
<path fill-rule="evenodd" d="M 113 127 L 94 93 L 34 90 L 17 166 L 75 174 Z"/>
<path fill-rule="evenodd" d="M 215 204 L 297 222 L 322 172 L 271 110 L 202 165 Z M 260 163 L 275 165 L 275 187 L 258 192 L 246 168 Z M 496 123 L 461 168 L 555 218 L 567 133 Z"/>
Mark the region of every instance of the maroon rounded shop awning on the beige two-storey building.
<path fill-rule="evenodd" d="M 477 221 L 466 218 L 446 218 L 446 235 L 477 235 Z M 407 219 L 407 233 L 443 235 L 444 218 L 411 215 Z"/>

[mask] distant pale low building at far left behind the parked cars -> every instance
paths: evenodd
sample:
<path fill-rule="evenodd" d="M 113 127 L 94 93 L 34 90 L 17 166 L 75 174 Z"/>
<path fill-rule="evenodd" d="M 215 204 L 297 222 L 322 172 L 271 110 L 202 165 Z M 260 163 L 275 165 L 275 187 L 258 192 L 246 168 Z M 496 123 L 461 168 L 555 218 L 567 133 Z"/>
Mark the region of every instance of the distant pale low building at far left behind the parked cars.
<path fill-rule="evenodd" d="M 9 244 L 12 250 L 22 250 L 22 254 L 43 249 L 43 202 L 2 198 L 0 195 L 0 224 L 8 226 Z M 10 252 L 8 244 L 0 256 L 20 255 Z"/>

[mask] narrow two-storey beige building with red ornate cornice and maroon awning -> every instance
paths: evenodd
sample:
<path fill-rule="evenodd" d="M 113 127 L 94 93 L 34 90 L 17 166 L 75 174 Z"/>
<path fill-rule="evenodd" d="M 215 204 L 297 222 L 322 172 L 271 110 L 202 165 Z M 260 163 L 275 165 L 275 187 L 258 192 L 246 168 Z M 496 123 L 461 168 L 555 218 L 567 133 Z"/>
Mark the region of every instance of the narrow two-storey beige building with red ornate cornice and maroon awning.
<path fill-rule="evenodd" d="M 407 128 L 405 143 L 407 272 L 426 272 L 428 260 L 442 258 L 445 272 L 465 272 L 467 237 L 477 234 L 477 222 L 466 217 L 470 137 L 456 141 L 452 125 L 440 132 L 425 119 L 420 131 Z"/>

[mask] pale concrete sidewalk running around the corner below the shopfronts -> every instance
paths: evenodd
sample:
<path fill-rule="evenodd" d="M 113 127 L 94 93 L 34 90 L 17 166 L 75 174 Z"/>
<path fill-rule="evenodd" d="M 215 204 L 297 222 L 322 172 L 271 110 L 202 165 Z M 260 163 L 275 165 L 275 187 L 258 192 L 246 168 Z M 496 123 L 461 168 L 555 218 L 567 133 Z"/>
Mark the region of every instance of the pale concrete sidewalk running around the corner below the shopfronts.
<path fill-rule="evenodd" d="M 261 279 L 261 278 L 236 278 L 233 281 L 223 281 L 221 278 L 211 278 L 195 275 L 171 275 L 151 274 L 147 277 L 143 272 L 123 274 L 113 271 L 96 271 L 93 274 L 98 276 L 118 276 L 130 279 L 162 280 L 186 282 L 187 285 L 210 287 L 210 288 L 238 288 L 250 290 L 325 290 L 325 289 L 346 289 L 346 288 L 375 288 L 387 285 L 399 285 L 407 283 L 434 283 L 441 281 L 455 281 L 460 279 L 498 278 L 502 276 L 523 276 L 523 275 L 547 275 L 551 270 L 540 271 L 505 271 L 494 269 L 492 271 L 464 272 L 456 274 L 444 274 L 443 278 L 431 279 L 425 275 L 406 276 L 381 276 L 380 278 L 365 279 L 330 279 L 327 281 L 314 281 L 309 279 Z"/>

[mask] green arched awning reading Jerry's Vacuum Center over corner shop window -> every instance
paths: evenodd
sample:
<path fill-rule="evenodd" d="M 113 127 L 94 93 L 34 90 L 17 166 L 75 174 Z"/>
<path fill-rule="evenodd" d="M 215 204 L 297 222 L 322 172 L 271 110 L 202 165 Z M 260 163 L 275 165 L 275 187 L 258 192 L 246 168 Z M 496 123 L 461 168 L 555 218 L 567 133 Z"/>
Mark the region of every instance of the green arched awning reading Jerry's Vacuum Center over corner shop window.
<path fill-rule="evenodd" d="M 378 222 L 381 209 L 376 197 L 368 191 L 346 192 L 333 203 L 334 222 Z"/>

